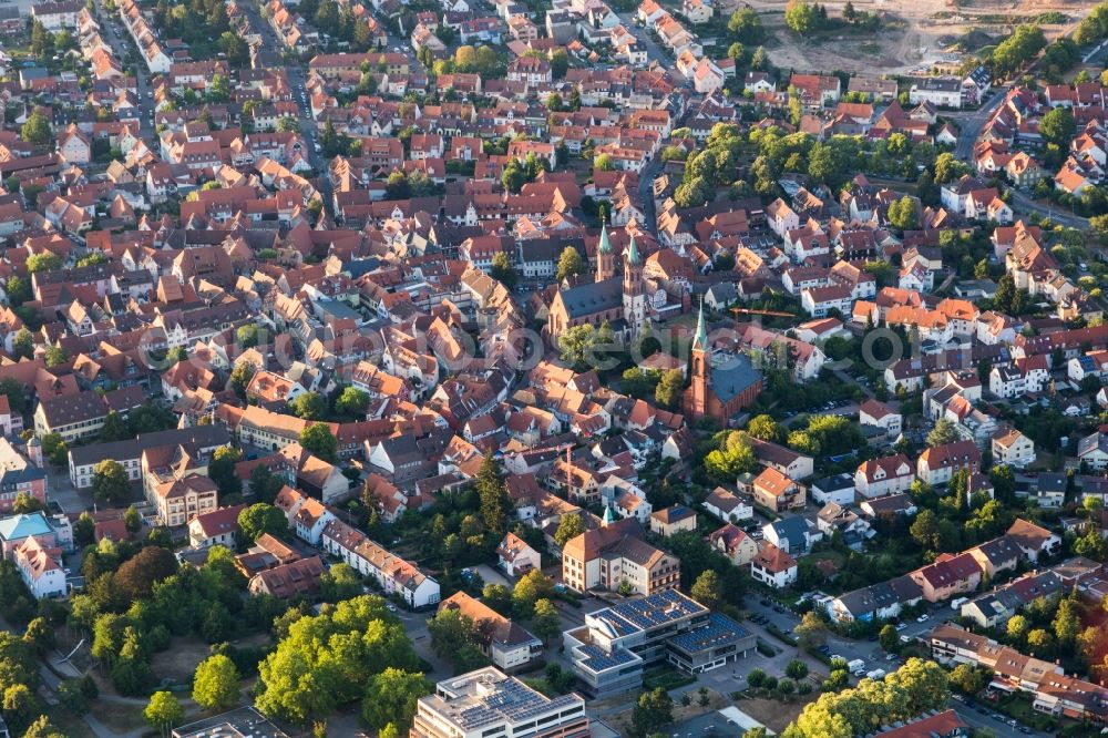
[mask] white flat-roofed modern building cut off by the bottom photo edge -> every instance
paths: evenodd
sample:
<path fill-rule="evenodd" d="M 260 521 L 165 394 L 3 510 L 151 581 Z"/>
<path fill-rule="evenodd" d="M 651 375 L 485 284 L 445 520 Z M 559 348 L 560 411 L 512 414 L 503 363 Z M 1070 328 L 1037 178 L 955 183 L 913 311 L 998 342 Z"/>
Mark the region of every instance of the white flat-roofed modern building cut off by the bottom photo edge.
<path fill-rule="evenodd" d="M 587 738 L 585 700 L 577 694 L 551 699 L 494 666 L 435 685 L 420 697 L 409 738 Z"/>

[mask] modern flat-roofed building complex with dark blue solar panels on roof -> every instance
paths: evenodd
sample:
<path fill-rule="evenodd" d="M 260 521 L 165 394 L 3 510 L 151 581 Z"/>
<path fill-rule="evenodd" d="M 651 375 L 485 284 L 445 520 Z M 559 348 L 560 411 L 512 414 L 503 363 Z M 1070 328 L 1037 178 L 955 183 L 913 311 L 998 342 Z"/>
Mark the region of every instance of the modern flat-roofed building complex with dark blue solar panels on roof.
<path fill-rule="evenodd" d="M 582 691 L 606 697 L 643 686 L 643 669 L 669 663 L 690 674 L 724 666 L 756 647 L 753 634 L 725 615 L 667 590 L 585 615 L 564 634 Z"/>

